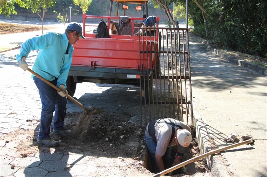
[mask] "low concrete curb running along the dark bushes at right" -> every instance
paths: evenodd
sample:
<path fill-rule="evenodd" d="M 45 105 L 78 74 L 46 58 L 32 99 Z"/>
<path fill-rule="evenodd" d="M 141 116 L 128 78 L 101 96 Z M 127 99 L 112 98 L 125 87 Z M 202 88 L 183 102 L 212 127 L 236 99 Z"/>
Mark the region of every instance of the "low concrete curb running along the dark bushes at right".
<path fill-rule="evenodd" d="M 264 68 L 260 65 L 253 64 L 252 62 L 248 62 L 248 61 L 244 61 L 244 60 L 238 60 L 238 59 L 235 59 L 233 57 L 227 56 L 227 54 L 223 53 L 221 50 L 215 49 L 214 46 L 209 41 L 207 41 L 201 37 L 198 37 L 192 33 L 189 33 L 189 35 L 193 36 L 195 39 L 197 39 L 201 43 L 208 45 L 210 47 L 210 49 L 212 51 L 214 51 L 215 54 L 217 54 L 219 57 L 227 60 L 228 62 L 235 64 L 235 65 L 238 65 L 238 66 L 242 66 L 244 68 L 248 68 L 248 69 L 253 70 L 253 71 L 255 71 L 261 75 L 267 76 L 267 68 Z"/>

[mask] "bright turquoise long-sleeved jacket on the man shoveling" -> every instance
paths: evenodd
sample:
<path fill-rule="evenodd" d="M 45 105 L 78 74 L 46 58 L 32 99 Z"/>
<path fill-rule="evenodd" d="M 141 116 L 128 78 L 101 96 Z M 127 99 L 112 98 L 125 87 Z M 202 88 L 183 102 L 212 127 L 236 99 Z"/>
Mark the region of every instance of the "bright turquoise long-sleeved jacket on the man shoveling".
<path fill-rule="evenodd" d="M 73 54 L 73 45 L 68 44 L 69 40 L 65 33 L 48 32 L 26 40 L 21 45 L 16 60 L 21 60 L 23 56 L 27 58 L 31 50 L 39 49 L 32 70 L 48 81 L 57 78 L 57 87 L 66 86 Z M 68 46 L 68 54 L 65 54 Z"/>

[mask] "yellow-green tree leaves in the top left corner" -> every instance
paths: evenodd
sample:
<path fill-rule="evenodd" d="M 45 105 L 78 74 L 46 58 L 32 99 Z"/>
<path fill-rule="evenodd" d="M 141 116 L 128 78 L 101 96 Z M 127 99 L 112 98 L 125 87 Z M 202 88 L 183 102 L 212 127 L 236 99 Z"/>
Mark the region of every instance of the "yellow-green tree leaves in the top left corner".
<path fill-rule="evenodd" d="M 10 16 L 10 14 L 16 15 L 17 11 L 15 11 L 15 3 L 20 7 L 26 7 L 26 4 L 21 0 L 0 0 L 0 14 L 6 16 Z"/>

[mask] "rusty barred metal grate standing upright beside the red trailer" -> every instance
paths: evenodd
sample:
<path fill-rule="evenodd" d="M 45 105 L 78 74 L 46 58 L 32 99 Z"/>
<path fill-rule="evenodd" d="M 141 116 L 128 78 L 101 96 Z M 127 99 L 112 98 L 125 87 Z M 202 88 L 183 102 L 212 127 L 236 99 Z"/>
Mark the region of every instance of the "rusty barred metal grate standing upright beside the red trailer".
<path fill-rule="evenodd" d="M 141 125 L 162 117 L 193 124 L 187 28 L 139 28 Z"/>

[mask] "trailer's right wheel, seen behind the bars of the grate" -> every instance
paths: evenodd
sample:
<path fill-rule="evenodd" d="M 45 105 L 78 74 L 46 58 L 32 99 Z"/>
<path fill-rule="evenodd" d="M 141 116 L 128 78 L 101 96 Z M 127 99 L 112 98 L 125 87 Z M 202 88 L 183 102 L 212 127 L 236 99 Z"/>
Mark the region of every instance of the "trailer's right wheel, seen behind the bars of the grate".
<path fill-rule="evenodd" d="M 150 102 L 152 101 L 151 95 L 152 95 L 153 80 L 149 79 L 149 83 L 148 83 L 147 79 L 145 79 L 145 83 L 143 83 L 143 82 L 144 82 L 144 80 L 142 79 L 142 81 L 141 81 L 142 104 L 145 103 L 145 98 L 146 98 L 146 103 L 149 103 L 149 98 L 150 98 Z"/>

